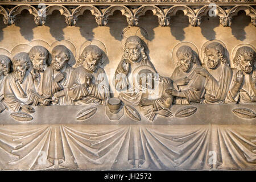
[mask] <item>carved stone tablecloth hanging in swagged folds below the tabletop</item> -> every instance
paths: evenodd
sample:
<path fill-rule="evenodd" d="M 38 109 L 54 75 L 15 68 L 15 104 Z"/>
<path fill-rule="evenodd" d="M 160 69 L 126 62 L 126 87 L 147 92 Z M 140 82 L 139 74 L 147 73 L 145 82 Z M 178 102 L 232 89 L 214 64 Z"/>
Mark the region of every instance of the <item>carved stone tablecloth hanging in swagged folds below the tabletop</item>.
<path fill-rule="evenodd" d="M 250 125 L 12 128 L 0 129 L 1 169 L 256 169 Z"/>

